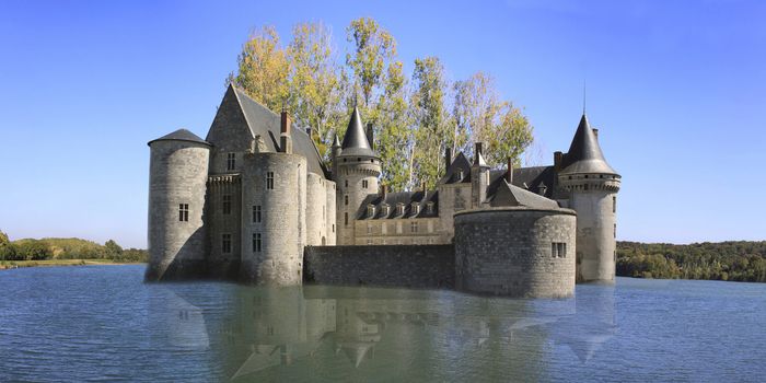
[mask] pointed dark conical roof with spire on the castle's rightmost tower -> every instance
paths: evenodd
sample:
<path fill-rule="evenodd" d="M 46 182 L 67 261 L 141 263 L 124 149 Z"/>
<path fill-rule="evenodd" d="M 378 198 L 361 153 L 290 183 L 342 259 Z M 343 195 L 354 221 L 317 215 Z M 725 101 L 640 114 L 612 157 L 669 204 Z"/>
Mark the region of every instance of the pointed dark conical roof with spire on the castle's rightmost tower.
<path fill-rule="evenodd" d="M 588 124 L 588 116 L 582 114 L 580 125 L 577 127 L 572 143 L 569 146 L 569 151 L 564 156 L 564 170 L 561 174 L 581 174 L 581 173 L 603 173 L 617 174 L 617 172 L 606 163 L 604 154 L 601 152 L 599 140 L 595 132 Z"/>

